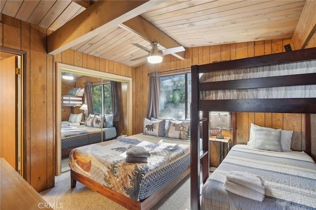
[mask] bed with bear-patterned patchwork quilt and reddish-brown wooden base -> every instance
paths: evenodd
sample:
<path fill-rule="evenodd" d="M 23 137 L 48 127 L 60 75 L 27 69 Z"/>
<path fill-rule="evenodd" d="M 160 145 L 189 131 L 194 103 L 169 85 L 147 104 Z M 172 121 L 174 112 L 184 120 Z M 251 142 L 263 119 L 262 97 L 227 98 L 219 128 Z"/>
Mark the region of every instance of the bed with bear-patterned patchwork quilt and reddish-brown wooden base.
<path fill-rule="evenodd" d="M 126 148 L 150 151 L 147 163 L 126 163 Z M 71 186 L 79 181 L 129 209 L 150 209 L 190 173 L 190 140 L 137 134 L 76 148 Z"/>

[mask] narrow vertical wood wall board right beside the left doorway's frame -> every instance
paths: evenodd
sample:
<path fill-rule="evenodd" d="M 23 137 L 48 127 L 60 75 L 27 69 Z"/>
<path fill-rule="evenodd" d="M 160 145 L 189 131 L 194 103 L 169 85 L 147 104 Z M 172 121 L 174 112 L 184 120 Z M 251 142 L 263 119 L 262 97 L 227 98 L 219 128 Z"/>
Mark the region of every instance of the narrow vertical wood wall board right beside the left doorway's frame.
<path fill-rule="evenodd" d="M 1 38 L 2 39 L 2 38 Z M 23 69 L 23 178 L 30 184 L 31 183 L 31 60 L 30 60 L 30 24 L 21 22 L 21 50 L 26 52 L 23 59 L 26 60 L 26 66 Z"/>

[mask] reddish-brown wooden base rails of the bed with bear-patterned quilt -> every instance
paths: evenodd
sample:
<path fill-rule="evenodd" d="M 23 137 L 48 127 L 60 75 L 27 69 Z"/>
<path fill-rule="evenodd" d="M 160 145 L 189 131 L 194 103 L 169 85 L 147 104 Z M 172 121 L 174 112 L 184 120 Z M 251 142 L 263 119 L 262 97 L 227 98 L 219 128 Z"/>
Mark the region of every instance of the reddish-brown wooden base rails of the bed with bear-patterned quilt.
<path fill-rule="evenodd" d="M 105 197 L 111 199 L 112 201 L 116 202 L 117 204 L 125 207 L 128 210 L 149 210 L 152 208 L 163 196 L 166 195 L 174 186 L 176 186 L 184 177 L 190 174 L 190 167 L 188 167 L 182 174 L 176 177 L 172 182 L 149 196 L 148 198 L 136 201 L 129 197 L 126 197 L 114 190 L 111 190 L 104 185 L 85 177 L 84 175 L 80 175 L 73 170 L 70 170 L 71 176 L 71 187 L 76 187 L 77 181 L 84 184 L 86 187 L 90 188 L 91 190 L 97 191 L 98 193 L 104 195 Z"/>

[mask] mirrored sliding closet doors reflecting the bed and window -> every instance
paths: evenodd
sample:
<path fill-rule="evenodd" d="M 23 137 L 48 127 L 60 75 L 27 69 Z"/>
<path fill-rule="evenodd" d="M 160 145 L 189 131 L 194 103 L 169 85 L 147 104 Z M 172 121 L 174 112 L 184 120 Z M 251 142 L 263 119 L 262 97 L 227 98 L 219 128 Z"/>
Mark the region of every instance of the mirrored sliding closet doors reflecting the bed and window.
<path fill-rule="evenodd" d="M 61 172 L 70 170 L 68 158 L 73 148 L 127 134 L 125 85 L 100 77 L 61 72 Z M 116 93 L 111 86 L 115 86 Z M 113 94 L 118 96 L 114 109 Z M 114 114 L 118 116 L 116 119 Z"/>

